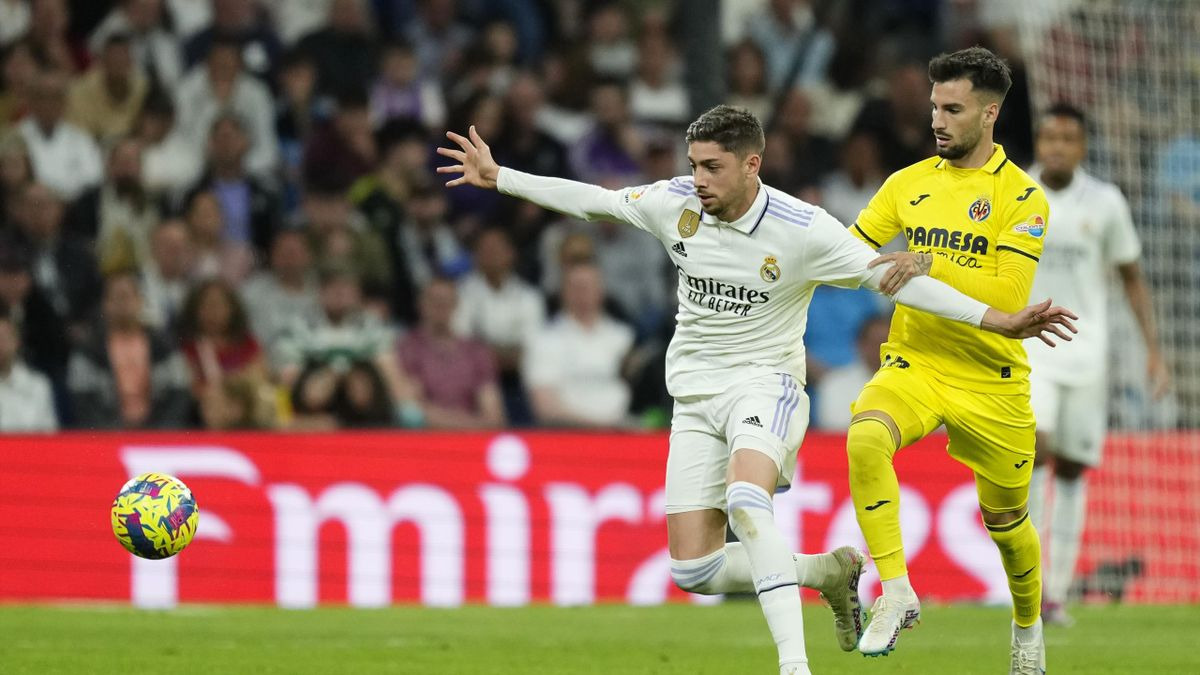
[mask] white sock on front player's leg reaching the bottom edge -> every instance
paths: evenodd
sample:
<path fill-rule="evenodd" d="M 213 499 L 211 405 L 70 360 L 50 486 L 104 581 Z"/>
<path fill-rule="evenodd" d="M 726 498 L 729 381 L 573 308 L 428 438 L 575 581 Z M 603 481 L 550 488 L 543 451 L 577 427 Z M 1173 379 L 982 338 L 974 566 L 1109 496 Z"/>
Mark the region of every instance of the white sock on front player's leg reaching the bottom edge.
<path fill-rule="evenodd" d="M 754 483 L 734 480 L 725 498 L 730 527 L 750 560 L 758 605 L 775 639 L 780 667 L 808 663 L 796 561 L 775 525 L 770 495 Z"/>

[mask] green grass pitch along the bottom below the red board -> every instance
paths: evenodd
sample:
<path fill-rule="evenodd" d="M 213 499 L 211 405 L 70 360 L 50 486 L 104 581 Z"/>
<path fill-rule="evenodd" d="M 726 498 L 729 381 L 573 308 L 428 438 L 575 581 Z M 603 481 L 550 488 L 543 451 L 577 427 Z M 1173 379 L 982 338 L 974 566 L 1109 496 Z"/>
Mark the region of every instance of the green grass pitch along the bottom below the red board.
<path fill-rule="evenodd" d="M 888 657 L 841 652 L 828 609 L 806 605 L 812 671 L 1001 674 L 1008 611 L 923 609 Z M 1046 629 L 1049 673 L 1200 673 L 1200 607 L 1084 607 Z M 752 602 L 563 609 L 379 610 L 0 605 L 0 671 L 238 674 L 778 673 Z"/>

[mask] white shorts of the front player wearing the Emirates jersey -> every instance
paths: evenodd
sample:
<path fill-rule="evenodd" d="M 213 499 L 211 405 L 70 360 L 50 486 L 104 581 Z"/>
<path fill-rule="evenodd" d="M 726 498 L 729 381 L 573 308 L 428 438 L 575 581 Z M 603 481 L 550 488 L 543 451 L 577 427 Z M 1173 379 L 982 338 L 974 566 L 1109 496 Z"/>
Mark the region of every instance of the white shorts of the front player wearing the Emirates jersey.
<path fill-rule="evenodd" d="M 676 399 L 667 455 L 667 513 L 725 510 L 725 478 L 738 449 L 758 450 L 791 484 L 796 454 L 809 426 L 809 398 L 784 372 L 739 382 L 712 396 Z"/>

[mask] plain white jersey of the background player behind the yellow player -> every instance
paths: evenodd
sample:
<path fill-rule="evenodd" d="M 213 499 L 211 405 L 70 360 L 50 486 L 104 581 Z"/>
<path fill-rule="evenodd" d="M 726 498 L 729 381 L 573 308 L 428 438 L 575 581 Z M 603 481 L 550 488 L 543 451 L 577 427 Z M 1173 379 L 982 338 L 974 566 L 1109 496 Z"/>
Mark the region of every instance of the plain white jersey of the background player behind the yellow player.
<path fill-rule="evenodd" d="M 1038 180 L 1040 167 L 1030 169 Z M 1050 203 L 1045 249 L 1033 279 L 1031 301 L 1054 298 L 1076 315 L 1079 334 L 1050 348 L 1026 340 L 1033 377 L 1064 384 L 1097 381 L 1108 359 L 1108 287 L 1114 265 L 1136 262 L 1141 244 L 1129 203 L 1111 183 L 1075 169 L 1062 190 L 1044 186 Z"/>

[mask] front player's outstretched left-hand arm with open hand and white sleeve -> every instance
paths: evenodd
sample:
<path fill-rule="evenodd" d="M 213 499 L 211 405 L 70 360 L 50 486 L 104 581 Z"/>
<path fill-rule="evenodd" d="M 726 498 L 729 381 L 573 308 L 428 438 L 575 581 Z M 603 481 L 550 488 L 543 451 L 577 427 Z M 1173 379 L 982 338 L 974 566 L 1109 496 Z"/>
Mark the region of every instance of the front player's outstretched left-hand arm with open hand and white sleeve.
<path fill-rule="evenodd" d="M 641 211 L 636 208 L 636 198 L 626 199 L 623 191 L 502 167 L 492 159 L 491 148 L 474 126 L 468 131 L 468 136 L 469 138 L 448 131 L 446 138 L 454 141 L 460 149 L 438 148 L 439 155 L 458 162 L 438 167 L 438 173 L 462 174 L 446 181 L 446 187 L 474 185 L 485 190 L 498 190 L 581 220 L 608 220 L 646 227 L 640 217 Z"/>

